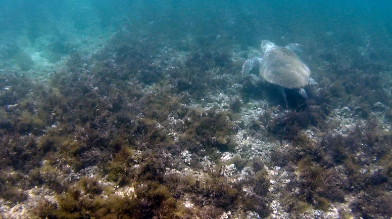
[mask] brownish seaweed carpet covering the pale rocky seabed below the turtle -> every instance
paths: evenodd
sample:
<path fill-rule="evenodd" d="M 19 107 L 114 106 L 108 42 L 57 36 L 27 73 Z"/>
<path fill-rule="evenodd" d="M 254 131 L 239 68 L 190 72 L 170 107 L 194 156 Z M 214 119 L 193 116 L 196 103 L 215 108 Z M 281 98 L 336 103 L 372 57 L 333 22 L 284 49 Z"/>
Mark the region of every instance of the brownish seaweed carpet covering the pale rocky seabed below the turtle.
<path fill-rule="evenodd" d="M 248 57 L 227 36 L 163 41 L 119 31 L 92 56 L 54 41 L 53 53 L 72 54 L 47 81 L 2 70 L 0 198 L 15 206 L 50 189 L 34 218 L 268 217 L 278 198 L 292 217 L 338 204 L 352 210 L 342 217 L 392 216 L 392 84 L 371 63 L 331 62 L 312 73 L 308 99 L 286 89 L 286 108 L 277 86 L 241 75 Z M 358 122 L 337 129 L 345 119 Z M 271 143 L 268 159 L 238 141 L 255 136 Z M 277 191 L 275 167 L 289 180 Z"/>

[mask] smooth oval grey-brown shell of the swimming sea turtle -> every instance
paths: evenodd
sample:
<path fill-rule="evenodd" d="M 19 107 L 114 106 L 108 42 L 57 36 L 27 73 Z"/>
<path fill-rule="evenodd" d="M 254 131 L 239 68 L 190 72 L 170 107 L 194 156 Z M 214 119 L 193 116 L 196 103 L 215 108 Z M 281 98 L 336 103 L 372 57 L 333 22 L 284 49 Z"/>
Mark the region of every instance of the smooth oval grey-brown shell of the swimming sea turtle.
<path fill-rule="evenodd" d="M 261 60 L 259 71 L 266 81 L 288 89 L 301 88 L 309 83 L 308 66 L 284 47 L 269 48 Z"/>

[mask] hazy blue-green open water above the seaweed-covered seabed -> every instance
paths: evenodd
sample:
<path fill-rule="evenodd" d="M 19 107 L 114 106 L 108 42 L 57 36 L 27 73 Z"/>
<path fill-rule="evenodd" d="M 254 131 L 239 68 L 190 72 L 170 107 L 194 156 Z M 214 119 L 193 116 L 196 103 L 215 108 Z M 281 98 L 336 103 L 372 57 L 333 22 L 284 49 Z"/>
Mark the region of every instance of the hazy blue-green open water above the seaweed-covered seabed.
<path fill-rule="evenodd" d="M 341 59 L 362 62 L 370 57 L 385 69 L 391 67 L 392 5 L 386 1 L 1 1 L 0 5 L 3 58 L 25 47 L 55 50 L 55 56 L 62 57 L 78 47 L 72 45 L 75 39 L 126 31 L 173 43 L 187 35 L 222 36 L 242 48 L 258 47 L 263 39 L 278 45 L 301 43 L 308 49 L 330 49 Z M 346 56 L 347 52 L 352 54 Z"/>

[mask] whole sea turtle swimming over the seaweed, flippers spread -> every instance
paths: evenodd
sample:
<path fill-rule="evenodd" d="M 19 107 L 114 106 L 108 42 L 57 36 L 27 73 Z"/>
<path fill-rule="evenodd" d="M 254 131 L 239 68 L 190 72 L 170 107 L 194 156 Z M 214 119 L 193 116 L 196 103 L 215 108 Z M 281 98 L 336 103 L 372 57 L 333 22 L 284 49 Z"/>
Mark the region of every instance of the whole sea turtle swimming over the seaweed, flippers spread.
<path fill-rule="evenodd" d="M 293 52 L 299 50 L 300 44 L 293 43 L 285 47 L 276 46 L 273 42 L 263 40 L 261 50 L 263 58 L 248 59 L 242 65 L 242 73 L 249 73 L 254 67 L 259 67 L 259 74 L 264 80 L 281 87 L 287 105 L 284 88 L 298 89 L 307 98 L 304 86 L 317 84 L 310 78 L 310 70 Z"/>

